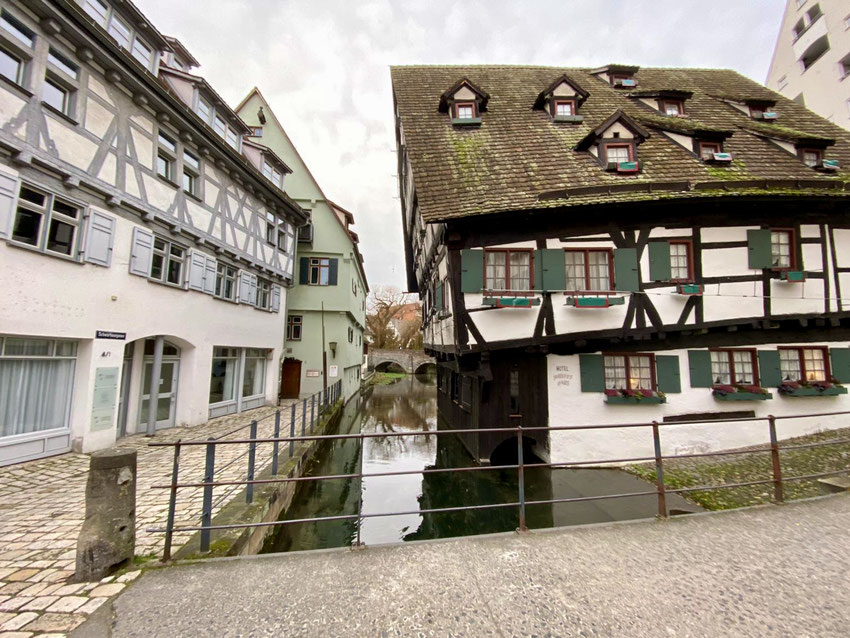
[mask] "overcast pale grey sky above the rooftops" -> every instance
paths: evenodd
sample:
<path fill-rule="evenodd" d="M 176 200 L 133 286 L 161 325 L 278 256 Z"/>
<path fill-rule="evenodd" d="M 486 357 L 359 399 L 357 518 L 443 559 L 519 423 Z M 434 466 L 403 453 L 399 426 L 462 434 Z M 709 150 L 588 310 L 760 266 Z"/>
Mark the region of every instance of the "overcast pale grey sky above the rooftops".
<path fill-rule="evenodd" d="M 767 76 L 784 0 L 136 0 L 235 106 L 258 86 L 325 194 L 354 213 L 370 286 L 405 286 L 389 66 L 731 68 Z M 446 87 L 448 88 L 448 87 Z M 435 100 L 437 96 L 435 96 Z"/>

